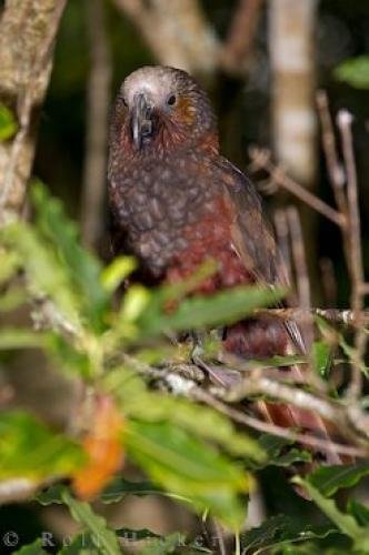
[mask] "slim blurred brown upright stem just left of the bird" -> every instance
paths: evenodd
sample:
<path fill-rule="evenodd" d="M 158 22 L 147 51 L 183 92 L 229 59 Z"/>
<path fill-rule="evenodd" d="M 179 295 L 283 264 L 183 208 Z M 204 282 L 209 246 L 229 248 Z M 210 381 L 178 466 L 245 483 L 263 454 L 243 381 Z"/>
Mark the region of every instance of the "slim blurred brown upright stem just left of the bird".
<path fill-rule="evenodd" d="M 87 85 L 87 140 L 83 168 L 81 226 L 86 246 L 96 246 L 101 236 L 108 120 L 110 104 L 111 59 L 101 0 L 87 0 L 91 56 Z"/>

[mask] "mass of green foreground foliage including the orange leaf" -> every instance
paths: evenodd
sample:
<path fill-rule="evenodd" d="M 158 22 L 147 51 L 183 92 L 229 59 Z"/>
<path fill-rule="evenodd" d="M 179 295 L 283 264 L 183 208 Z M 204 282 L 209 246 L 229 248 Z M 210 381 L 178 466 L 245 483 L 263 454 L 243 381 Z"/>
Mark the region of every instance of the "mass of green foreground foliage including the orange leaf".
<path fill-rule="evenodd" d="M 246 517 L 256 476 L 266 467 L 290 467 L 311 462 L 311 454 L 291 441 L 236 430 L 213 408 L 149 386 L 150 364 L 171 376 L 179 389 L 186 377 L 174 375 L 176 364 L 190 362 L 191 344 L 168 341 L 174 332 L 210 330 L 238 321 L 282 294 L 260 287 L 237 287 L 212 297 L 188 295 L 213 272 L 209 264 L 186 283 L 148 290 L 130 285 L 116 295 L 120 283 L 136 269 L 131 258 L 103 266 L 78 242 L 78 230 L 59 201 L 40 183 L 32 185 L 34 224 L 11 223 L 0 231 L 4 291 L 0 311 L 31 307 L 37 324 L 0 331 L 0 350 L 37 349 L 56 370 L 84 384 L 88 395 L 80 407 L 81 423 L 54 431 L 26 411 L 0 416 L 0 486 L 27 480 L 39 491 L 42 505 L 63 504 L 82 531 L 61 554 L 121 553 L 124 542 L 143 542 L 141 553 L 209 553 L 183 534 L 159 536 L 127 527 L 113 531 L 88 503 L 121 503 L 128 496 L 160 495 L 184 504 L 198 515 L 210 515 L 238 532 Z M 10 301 L 9 301 L 10 299 Z M 217 350 L 217 340 L 203 344 L 203 355 Z M 210 356 L 210 355 L 209 355 Z M 330 349 L 315 344 L 317 373 L 326 376 Z M 349 354 L 348 354 L 349 356 Z M 249 361 L 252 367 L 307 363 L 305 357 Z M 246 365 L 243 371 L 247 372 Z M 182 380 L 182 381 L 181 381 Z M 126 461 L 147 476 L 131 482 Z M 317 468 L 296 478 L 311 496 L 327 523 L 315 525 L 297 515 L 275 515 L 241 535 L 245 553 L 315 553 L 327 536 L 352 542 L 369 551 L 368 508 L 351 500 L 347 513 L 330 498 L 368 473 L 368 465 Z M 68 485 L 67 485 L 67 482 Z M 329 522 L 331 521 L 331 522 Z M 141 545 L 141 544 L 140 544 Z M 42 542 L 20 553 L 42 553 Z"/>

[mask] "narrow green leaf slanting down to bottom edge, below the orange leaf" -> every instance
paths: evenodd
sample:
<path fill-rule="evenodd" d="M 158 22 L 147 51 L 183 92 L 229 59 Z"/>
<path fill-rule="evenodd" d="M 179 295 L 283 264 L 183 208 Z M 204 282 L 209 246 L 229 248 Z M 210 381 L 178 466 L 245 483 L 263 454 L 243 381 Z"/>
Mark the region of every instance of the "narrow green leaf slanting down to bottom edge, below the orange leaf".
<path fill-rule="evenodd" d="M 88 503 L 77 501 L 67 490 L 62 493 L 62 500 L 68 505 L 74 521 L 88 529 L 99 553 L 102 555 L 119 555 L 121 553 L 114 532 L 108 527 L 102 516 L 93 513 Z"/>

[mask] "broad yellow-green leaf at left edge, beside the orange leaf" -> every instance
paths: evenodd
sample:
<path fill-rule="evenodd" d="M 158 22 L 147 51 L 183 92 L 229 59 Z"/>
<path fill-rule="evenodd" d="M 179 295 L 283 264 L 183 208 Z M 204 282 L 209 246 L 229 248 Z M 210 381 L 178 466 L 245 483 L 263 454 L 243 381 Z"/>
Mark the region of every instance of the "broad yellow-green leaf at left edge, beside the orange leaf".
<path fill-rule="evenodd" d="M 82 448 L 21 411 L 0 415 L 0 480 L 36 482 L 69 475 L 86 461 Z"/>

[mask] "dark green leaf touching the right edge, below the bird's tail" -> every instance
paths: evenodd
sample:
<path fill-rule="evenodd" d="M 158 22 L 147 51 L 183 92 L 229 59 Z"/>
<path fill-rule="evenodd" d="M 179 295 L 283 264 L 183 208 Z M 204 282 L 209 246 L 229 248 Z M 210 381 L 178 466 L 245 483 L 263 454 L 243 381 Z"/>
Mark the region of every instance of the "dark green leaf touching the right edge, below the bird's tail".
<path fill-rule="evenodd" d="M 330 497 L 337 490 L 355 486 L 363 476 L 369 474 L 369 463 L 351 465 L 320 466 L 308 475 L 307 480 L 319 492 Z"/>

